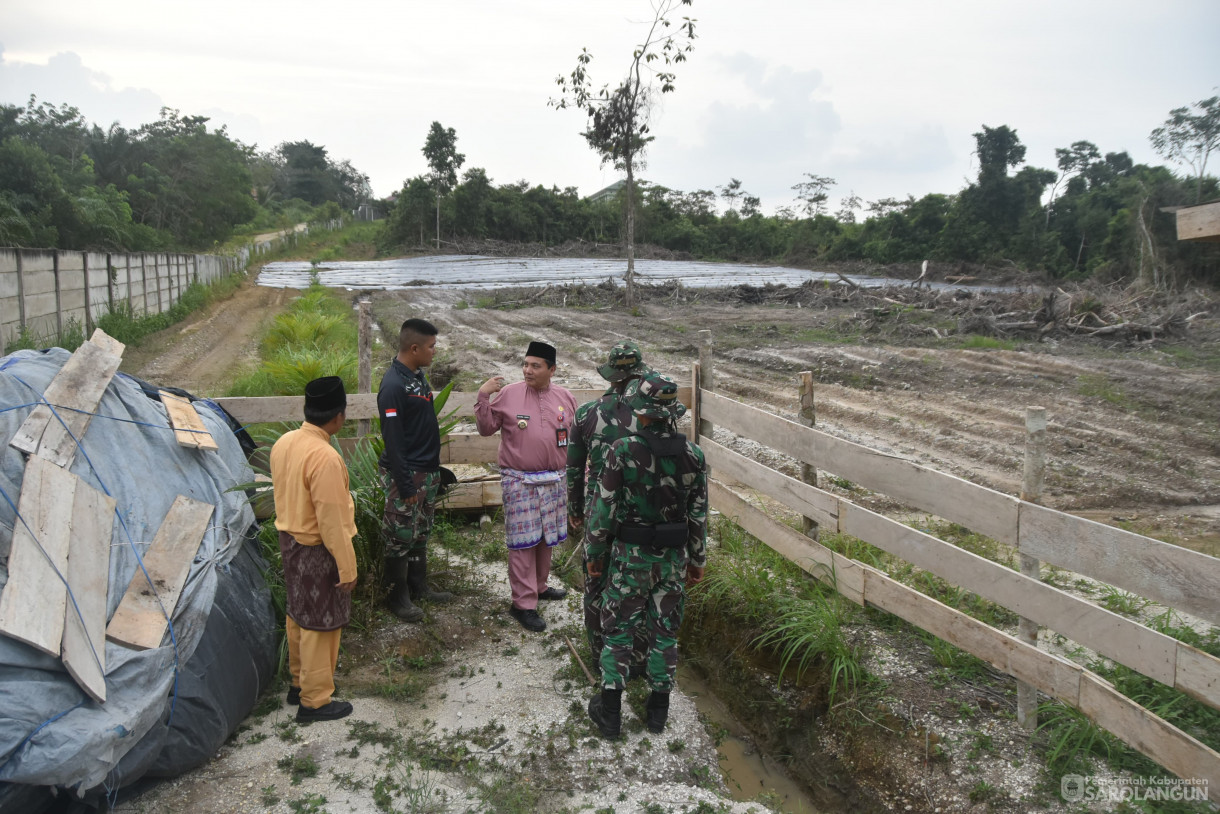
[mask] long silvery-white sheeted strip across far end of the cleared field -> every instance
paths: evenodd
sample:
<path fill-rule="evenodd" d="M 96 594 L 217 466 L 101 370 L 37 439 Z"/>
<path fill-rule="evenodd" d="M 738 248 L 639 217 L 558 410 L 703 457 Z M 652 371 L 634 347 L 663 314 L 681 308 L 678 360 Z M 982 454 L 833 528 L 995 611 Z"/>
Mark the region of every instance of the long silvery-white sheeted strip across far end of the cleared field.
<path fill-rule="evenodd" d="M 622 260 L 583 258 L 484 258 L 478 255 L 429 255 L 393 260 L 334 260 L 316 266 L 305 261 L 268 262 L 259 273 L 260 286 L 268 288 L 307 288 L 317 273 L 318 282 L 349 290 L 393 290 L 403 288 L 515 288 L 547 284 L 597 286 L 606 279 L 621 284 L 626 264 Z M 887 277 L 847 276 L 864 288 L 905 286 L 910 281 Z M 691 288 L 723 286 L 800 286 L 809 281 L 843 284 L 838 273 L 756 266 L 731 262 L 683 260 L 637 260 L 636 278 L 643 284 L 673 281 Z M 960 288 L 931 283 L 932 288 Z"/>

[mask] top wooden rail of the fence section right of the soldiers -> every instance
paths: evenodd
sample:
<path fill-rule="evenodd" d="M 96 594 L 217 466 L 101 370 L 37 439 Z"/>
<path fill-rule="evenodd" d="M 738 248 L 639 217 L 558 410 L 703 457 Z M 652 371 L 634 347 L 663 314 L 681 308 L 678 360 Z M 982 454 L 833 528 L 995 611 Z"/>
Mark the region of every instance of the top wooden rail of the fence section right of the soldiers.
<path fill-rule="evenodd" d="M 737 434 L 1019 546 L 1024 554 L 1220 625 L 1220 559 L 1026 503 L 708 391 L 700 400 L 710 421 Z"/>

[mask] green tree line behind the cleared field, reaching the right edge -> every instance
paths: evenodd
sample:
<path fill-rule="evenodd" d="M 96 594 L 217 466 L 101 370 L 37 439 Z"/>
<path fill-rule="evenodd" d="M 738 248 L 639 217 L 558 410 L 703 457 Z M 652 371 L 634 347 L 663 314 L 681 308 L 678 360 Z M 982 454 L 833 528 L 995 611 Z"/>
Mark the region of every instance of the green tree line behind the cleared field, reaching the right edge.
<path fill-rule="evenodd" d="M 456 153 L 453 129 L 442 128 L 459 159 L 448 167 L 450 181 L 438 185 L 436 171 L 409 179 L 389 214 L 387 239 L 403 248 L 423 245 L 436 229 L 436 238 L 447 240 L 625 243 L 632 217 L 637 243 L 700 259 L 933 260 L 1016 266 L 1053 278 L 1220 284 L 1220 249 L 1180 243 L 1172 214 L 1220 196 L 1220 184 L 1205 172 L 1207 151 L 1220 137 L 1220 98 L 1196 109 L 1200 112 L 1186 127 L 1174 129 L 1190 115 L 1179 109 L 1150 135 L 1163 156 L 1191 168 L 1185 177 L 1136 164 L 1125 151 L 1103 154 L 1087 140 L 1058 149 L 1055 170 L 1026 166 L 1015 129 L 983 126 L 974 134 L 977 176 L 960 192 L 875 201 L 849 194 L 833 214 L 827 201 L 836 181 L 815 173 L 797 181 L 792 205 L 773 215 L 764 215 L 761 201 L 737 178 L 694 192 L 637 179 L 633 200 L 626 184 L 605 198 L 582 198 L 572 187 L 495 184 L 481 167 L 454 183 L 465 156 Z M 429 161 L 444 165 L 444 155 Z"/>

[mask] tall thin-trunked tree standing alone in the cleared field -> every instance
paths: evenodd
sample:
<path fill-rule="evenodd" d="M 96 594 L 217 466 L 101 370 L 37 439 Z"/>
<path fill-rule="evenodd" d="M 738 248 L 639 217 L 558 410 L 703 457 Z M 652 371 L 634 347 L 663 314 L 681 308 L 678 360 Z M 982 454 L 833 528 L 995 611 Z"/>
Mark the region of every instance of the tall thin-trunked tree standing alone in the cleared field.
<path fill-rule="evenodd" d="M 688 6 L 692 0 L 680 0 L 680 4 Z M 594 89 L 587 71 L 593 55 L 587 49 L 581 49 L 571 74 L 560 76 L 555 81 L 560 87 L 559 99 L 548 103 L 558 109 L 575 106 L 583 110 L 589 122 L 584 132 L 589 146 L 601 156 L 603 164 L 612 164 L 627 175 L 623 237 L 628 306 L 634 303 L 636 295 L 636 170 L 643 166 L 644 148 L 653 140 L 648 134 L 653 101 L 658 92 L 665 94 L 673 90 L 676 77 L 672 68 L 686 61 L 687 54 L 694 48 L 694 20 L 683 17 L 677 33 L 671 31 L 670 16 L 677 5 L 673 0 L 655 0 L 648 34 L 632 51 L 627 77 L 614 90 L 609 84 L 601 85 L 600 90 Z M 665 70 L 653 68 L 658 61 Z"/>

